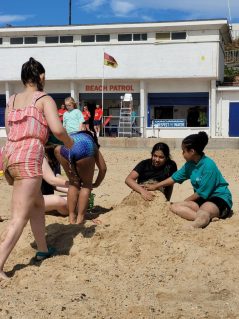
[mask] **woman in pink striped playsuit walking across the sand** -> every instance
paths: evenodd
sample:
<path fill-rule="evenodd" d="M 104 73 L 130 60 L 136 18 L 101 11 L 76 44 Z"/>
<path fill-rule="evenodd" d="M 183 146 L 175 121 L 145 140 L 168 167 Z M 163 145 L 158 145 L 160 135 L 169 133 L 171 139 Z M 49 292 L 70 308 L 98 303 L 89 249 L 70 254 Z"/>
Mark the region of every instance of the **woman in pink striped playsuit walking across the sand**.
<path fill-rule="evenodd" d="M 45 238 L 44 202 L 41 194 L 42 161 L 48 126 L 66 148 L 73 146 L 57 113 L 55 102 L 43 92 L 45 69 L 30 58 L 23 64 L 21 79 L 24 90 L 11 96 L 6 107 L 7 143 L 3 152 L 3 169 L 13 184 L 12 216 L 1 235 L 0 279 L 8 278 L 4 264 L 30 220 L 37 244 L 37 259 L 51 256 Z"/>

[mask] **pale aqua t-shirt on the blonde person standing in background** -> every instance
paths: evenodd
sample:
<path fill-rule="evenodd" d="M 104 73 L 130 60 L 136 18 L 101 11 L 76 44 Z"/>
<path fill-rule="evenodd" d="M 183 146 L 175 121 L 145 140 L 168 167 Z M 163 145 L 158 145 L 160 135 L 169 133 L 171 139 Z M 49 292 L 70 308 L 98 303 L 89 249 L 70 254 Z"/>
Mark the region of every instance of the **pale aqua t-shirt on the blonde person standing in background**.
<path fill-rule="evenodd" d="M 67 111 L 63 115 L 63 126 L 68 134 L 79 132 L 80 124 L 84 121 L 84 116 L 78 109 Z"/>

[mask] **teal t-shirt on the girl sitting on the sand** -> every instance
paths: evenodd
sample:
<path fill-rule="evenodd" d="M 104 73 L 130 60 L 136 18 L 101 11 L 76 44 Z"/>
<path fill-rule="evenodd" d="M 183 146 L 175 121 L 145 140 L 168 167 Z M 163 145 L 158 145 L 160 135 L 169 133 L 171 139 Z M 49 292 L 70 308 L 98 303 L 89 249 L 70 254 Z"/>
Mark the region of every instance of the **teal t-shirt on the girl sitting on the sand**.
<path fill-rule="evenodd" d="M 175 183 L 183 183 L 190 179 L 194 192 L 200 197 L 208 199 L 211 197 L 222 198 L 231 208 L 232 195 L 228 189 L 228 183 L 222 176 L 215 162 L 203 155 L 198 163 L 187 162 L 172 176 Z"/>

